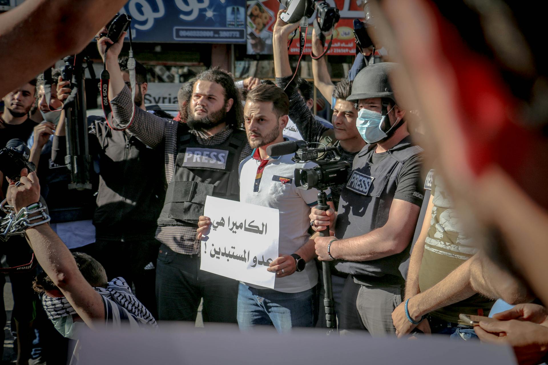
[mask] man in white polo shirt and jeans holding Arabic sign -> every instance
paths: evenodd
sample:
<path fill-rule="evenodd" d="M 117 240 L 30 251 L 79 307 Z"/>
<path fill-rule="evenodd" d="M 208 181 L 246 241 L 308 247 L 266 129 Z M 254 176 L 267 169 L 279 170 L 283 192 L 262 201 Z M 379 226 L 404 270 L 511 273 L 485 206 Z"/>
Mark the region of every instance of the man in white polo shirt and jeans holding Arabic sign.
<path fill-rule="evenodd" d="M 279 257 L 265 268 L 275 275 L 273 289 L 252 283 L 239 285 L 237 316 L 241 329 L 273 325 L 278 332 L 287 332 L 292 327 L 313 327 L 318 318 L 318 272 L 314 263 L 307 263 L 315 257 L 308 215 L 317 204 L 318 190 L 298 189 L 293 181 L 295 168 L 315 164 L 297 164 L 292 155 L 270 158 L 266 153 L 266 147 L 284 141 L 282 132 L 288 111 L 287 95 L 274 85 L 260 85 L 249 91 L 244 107 L 248 141 L 255 149 L 239 167 L 240 201 L 276 208 L 280 229 Z M 211 222 L 208 217 L 200 217 L 199 238 L 210 228 L 215 229 Z M 270 225 L 267 229 L 271 229 Z M 260 239 L 256 242 L 265 248 L 267 244 Z M 261 257 L 263 265 L 265 260 L 267 256 Z"/>

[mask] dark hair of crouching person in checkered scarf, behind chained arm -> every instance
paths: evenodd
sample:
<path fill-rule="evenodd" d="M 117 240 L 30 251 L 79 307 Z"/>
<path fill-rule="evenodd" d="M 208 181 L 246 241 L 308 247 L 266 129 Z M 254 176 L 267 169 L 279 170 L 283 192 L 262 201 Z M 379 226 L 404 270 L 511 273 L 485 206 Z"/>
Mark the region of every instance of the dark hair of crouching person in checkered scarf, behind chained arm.
<path fill-rule="evenodd" d="M 106 277 L 105 268 L 103 268 L 98 260 L 89 256 L 87 253 L 82 252 L 73 252 L 72 257 L 74 257 L 78 270 L 80 270 L 80 273 L 82 273 L 82 276 L 84 276 L 84 279 L 89 285 L 106 288 L 108 279 Z M 59 289 L 45 271 L 36 275 L 35 280 L 32 283 L 32 288 L 37 293 Z"/>

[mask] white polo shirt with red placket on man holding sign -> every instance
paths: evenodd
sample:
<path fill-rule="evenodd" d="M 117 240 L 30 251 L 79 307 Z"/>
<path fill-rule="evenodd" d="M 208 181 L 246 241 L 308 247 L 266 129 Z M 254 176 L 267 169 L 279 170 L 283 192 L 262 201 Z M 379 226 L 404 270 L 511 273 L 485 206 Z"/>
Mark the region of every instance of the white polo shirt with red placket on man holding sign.
<path fill-rule="evenodd" d="M 255 157 L 255 158 L 254 158 Z M 260 160 L 259 150 L 239 165 L 240 201 L 279 210 L 279 253 L 295 253 L 310 238 L 310 208 L 317 204 L 318 190 L 298 189 L 293 172 L 297 167 L 310 169 L 315 163 L 298 164 L 293 155 Z M 257 159 L 258 158 L 258 159 Z M 326 194 L 330 194 L 326 190 Z M 266 270 L 266 268 L 265 268 Z M 313 261 L 307 262 L 300 273 L 276 276 L 274 289 L 283 293 L 299 293 L 318 283 L 318 271 Z M 262 288 L 246 283 L 254 288 Z"/>

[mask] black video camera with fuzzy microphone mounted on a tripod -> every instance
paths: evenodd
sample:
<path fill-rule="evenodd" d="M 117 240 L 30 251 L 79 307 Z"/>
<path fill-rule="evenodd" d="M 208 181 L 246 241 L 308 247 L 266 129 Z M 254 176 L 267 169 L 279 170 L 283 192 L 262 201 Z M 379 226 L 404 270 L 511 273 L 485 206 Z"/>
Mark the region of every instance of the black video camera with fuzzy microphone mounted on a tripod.
<path fill-rule="evenodd" d="M 321 147 L 312 147 L 321 145 Z M 318 166 L 312 169 L 295 169 L 295 186 L 299 189 L 309 190 L 316 188 L 326 190 L 329 187 L 346 183 L 350 164 L 341 161 L 340 157 L 334 159 L 324 158 L 327 152 L 334 151 L 338 155 L 336 147 L 327 147 L 322 143 L 305 141 L 286 141 L 272 144 L 266 148 L 269 156 L 281 156 L 295 153 L 293 161 L 305 163 L 313 161 Z"/>

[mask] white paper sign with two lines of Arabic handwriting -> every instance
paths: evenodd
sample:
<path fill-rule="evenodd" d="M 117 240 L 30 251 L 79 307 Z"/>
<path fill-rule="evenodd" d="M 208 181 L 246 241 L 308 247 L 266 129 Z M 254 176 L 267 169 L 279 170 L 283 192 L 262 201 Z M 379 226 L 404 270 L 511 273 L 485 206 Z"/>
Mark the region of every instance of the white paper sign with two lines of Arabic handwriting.
<path fill-rule="evenodd" d="M 207 196 L 204 216 L 212 225 L 202 237 L 200 269 L 274 288 L 276 273 L 266 269 L 278 257 L 278 210 Z"/>

